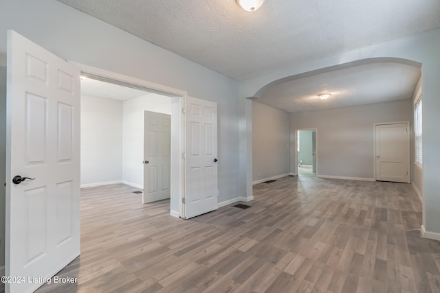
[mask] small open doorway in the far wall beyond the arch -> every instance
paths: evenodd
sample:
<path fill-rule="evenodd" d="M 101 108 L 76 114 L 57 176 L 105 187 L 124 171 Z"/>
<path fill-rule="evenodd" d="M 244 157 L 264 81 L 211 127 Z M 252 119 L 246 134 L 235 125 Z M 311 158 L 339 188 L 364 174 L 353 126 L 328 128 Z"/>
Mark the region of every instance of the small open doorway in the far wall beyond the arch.
<path fill-rule="evenodd" d="M 316 176 L 316 129 L 296 130 L 296 174 Z"/>

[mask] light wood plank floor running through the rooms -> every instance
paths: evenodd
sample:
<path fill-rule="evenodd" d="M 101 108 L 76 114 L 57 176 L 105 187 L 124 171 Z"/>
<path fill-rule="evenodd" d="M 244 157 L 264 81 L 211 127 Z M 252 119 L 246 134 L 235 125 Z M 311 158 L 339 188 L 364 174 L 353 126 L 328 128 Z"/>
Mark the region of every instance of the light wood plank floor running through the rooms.
<path fill-rule="evenodd" d="M 440 292 L 410 185 L 285 177 L 191 220 L 134 190 L 83 189 L 78 283 L 38 292 Z"/>

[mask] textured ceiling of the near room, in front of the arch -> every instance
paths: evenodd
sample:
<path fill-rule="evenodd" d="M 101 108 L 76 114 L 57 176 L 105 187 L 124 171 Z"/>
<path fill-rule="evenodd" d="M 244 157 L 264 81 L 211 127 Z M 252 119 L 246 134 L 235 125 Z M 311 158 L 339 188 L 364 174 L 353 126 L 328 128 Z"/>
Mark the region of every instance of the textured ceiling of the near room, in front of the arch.
<path fill-rule="evenodd" d="M 243 80 L 440 27 L 440 0 L 58 0 Z"/>

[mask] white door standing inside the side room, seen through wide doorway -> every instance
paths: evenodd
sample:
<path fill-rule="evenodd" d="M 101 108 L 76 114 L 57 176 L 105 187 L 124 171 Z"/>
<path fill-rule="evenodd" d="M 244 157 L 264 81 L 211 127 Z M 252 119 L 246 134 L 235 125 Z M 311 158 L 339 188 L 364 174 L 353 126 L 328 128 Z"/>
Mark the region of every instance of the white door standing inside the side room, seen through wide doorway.
<path fill-rule="evenodd" d="M 171 195 L 170 125 L 171 115 L 144 112 L 144 204 Z"/>

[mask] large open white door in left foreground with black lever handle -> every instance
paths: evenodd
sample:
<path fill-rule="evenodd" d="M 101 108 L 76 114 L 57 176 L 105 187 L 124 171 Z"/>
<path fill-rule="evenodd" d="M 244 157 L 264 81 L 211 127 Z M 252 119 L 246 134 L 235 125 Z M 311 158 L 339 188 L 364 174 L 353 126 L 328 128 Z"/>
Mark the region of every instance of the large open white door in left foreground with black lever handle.
<path fill-rule="evenodd" d="M 23 293 L 80 254 L 80 70 L 8 31 L 7 82 L 5 274 L 23 279 L 5 288 Z"/>

